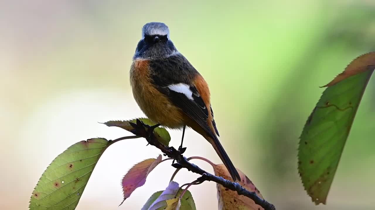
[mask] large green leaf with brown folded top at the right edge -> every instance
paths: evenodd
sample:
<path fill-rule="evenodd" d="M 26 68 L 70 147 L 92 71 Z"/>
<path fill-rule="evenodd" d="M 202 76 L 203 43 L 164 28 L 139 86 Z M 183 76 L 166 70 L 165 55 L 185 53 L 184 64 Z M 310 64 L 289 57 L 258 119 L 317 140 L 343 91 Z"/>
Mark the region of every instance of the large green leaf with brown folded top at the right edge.
<path fill-rule="evenodd" d="M 300 136 L 298 169 L 315 204 L 327 195 L 363 92 L 374 71 L 375 52 L 362 55 L 337 75 L 306 121 Z"/>

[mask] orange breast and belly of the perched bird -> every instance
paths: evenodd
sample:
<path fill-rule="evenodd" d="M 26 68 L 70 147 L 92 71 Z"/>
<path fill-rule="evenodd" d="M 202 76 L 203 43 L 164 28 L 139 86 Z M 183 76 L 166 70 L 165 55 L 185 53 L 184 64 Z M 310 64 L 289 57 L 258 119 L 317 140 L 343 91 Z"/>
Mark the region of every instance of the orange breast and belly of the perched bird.
<path fill-rule="evenodd" d="M 148 60 L 136 60 L 130 68 L 130 84 L 139 108 L 155 123 L 170 128 L 184 125 L 183 113 L 150 82 Z"/>

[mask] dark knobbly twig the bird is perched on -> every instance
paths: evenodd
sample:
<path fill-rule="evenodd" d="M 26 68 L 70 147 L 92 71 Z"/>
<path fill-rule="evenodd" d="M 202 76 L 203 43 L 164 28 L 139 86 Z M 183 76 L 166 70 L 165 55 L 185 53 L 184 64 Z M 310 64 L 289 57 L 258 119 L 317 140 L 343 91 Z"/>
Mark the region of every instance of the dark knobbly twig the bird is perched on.
<path fill-rule="evenodd" d="M 183 155 L 181 155 L 181 152 L 173 147 L 168 147 L 160 143 L 156 140 L 156 136 L 153 135 L 153 127 L 147 126 L 143 124 L 143 126 L 140 126 L 143 124 L 141 121 L 137 119 L 137 123 L 131 123 L 131 125 L 134 127 L 134 130 L 132 130 L 132 133 L 136 135 L 133 138 L 137 137 L 143 137 L 147 140 L 147 142 L 150 145 L 156 146 L 156 148 L 160 149 L 166 156 L 169 158 L 173 158 L 177 161 L 177 163 L 172 164 L 175 168 L 185 168 L 191 172 L 197 173 L 199 175 L 202 175 L 198 179 L 200 181 L 213 181 L 216 183 L 219 183 L 220 185 L 224 186 L 225 188 L 228 188 L 232 191 L 237 191 L 239 195 L 246 196 L 253 200 L 256 204 L 263 207 L 265 210 L 276 210 L 275 206 L 273 204 L 268 203 L 268 201 L 258 197 L 258 195 L 255 192 L 250 192 L 247 189 L 243 188 L 239 183 L 237 182 L 231 182 L 229 180 L 224 179 L 223 177 L 215 176 L 211 173 L 206 172 L 205 170 L 199 168 L 195 164 L 190 163 Z M 151 130 L 149 130 L 151 128 Z M 115 139 L 115 141 L 126 139 L 126 137 Z"/>

